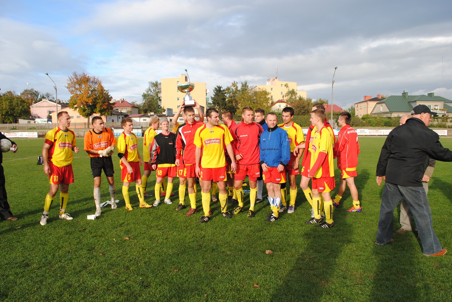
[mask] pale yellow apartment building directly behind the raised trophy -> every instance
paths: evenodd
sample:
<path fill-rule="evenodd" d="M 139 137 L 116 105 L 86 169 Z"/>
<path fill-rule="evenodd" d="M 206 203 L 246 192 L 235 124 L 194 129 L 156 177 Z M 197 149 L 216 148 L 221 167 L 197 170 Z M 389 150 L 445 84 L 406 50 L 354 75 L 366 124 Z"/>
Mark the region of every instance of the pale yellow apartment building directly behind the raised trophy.
<path fill-rule="evenodd" d="M 188 83 L 187 76 L 180 74 L 179 78 L 162 79 L 161 84 L 161 104 L 165 108 L 173 109 L 176 112 L 180 104 L 184 102 L 185 93 L 177 89 L 177 85 Z M 202 107 L 206 107 L 206 83 L 191 82 L 195 84 L 195 88 L 190 93 L 193 100 L 199 103 Z"/>

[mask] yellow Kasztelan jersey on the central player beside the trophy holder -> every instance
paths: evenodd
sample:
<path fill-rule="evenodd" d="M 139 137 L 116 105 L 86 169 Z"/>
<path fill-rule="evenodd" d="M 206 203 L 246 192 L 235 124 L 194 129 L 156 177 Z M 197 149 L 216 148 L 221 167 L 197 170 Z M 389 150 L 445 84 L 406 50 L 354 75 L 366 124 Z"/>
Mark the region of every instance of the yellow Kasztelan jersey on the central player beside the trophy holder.
<path fill-rule="evenodd" d="M 226 166 L 224 146 L 231 144 L 232 136 L 225 125 L 219 124 L 212 129 L 202 125 L 195 132 L 194 144 L 202 149 L 201 166 L 219 168 Z"/>

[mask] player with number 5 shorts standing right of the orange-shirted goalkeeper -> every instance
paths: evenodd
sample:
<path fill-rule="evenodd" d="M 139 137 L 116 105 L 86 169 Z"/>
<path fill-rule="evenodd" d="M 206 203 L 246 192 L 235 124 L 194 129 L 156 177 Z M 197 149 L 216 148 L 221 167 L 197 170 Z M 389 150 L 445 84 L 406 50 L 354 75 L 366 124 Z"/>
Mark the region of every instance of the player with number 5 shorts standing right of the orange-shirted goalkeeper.
<path fill-rule="evenodd" d="M 133 134 L 133 120 L 130 117 L 125 117 L 121 121 L 124 132 L 118 137 L 118 157 L 119 165 L 121 166 L 121 181 L 122 196 L 126 202 L 126 209 L 132 211 L 132 205 L 129 198 L 129 186 L 131 182 L 135 182 L 135 189 L 137 190 L 138 200 L 140 200 L 140 208 L 151 208 L 152 204 L 147 204 L 144 201 L 144 190 L 141 186 L 141 170 L 143 160 L 140 152 L 138 152 L 137 136 Z"/>

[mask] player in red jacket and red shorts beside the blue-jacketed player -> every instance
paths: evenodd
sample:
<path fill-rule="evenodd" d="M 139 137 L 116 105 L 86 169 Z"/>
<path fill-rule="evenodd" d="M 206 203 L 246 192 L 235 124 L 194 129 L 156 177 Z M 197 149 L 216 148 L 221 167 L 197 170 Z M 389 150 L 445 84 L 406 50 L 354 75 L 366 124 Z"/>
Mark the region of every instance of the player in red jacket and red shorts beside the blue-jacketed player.
<path fill-rule="evenodd" d="M 251 107 L 242 109 L 242 121 L 232 131 L 234 139 L 235 162 L 237 171 L 234 177 L 234 190 L 237 194 L 239 205 L 234 209 L 234 214 L 239 214 L 243 207 L 242 184 L 245 177 L 250 181 L 250 210 L 248 218 L 254 217 L 254 204 L 257 195 L 257 177 L 259 170 L 259 138 L 263 130 L 261 125 L 253 121 L 254 111 Z"/>

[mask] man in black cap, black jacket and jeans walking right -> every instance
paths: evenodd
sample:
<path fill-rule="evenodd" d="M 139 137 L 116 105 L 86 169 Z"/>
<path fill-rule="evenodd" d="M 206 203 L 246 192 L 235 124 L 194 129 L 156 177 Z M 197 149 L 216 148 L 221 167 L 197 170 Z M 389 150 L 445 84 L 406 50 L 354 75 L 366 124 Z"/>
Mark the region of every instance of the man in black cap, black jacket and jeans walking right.
<path fill-rule="evenodd" d="M 429 158 L 452 162 L 452 152 L 443 148 L 438 134 L 427 127 L 432 116 L 436 116 L 436 113 L 431 112 L 427 106 L 414 107 L 411 118 L 392 130 L 381 148 L 377 164 L 377 184 L 380 186 L 382 180 L 386 183 L 381 196 L 375 243 L 385 245 L 394 241 L 394 209 L 404 197 L 414 216 L 423 254 L 443 256 L 447 250 L 441 247 L 433 230 L 432 212 L 422 186 L 422 178 Z"/>

